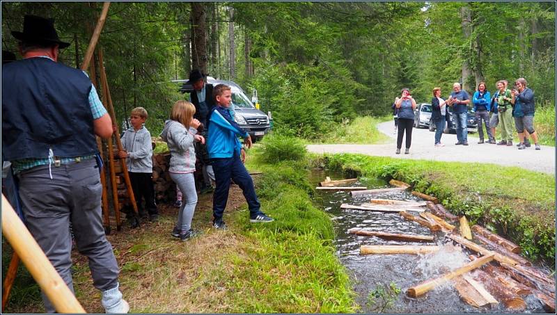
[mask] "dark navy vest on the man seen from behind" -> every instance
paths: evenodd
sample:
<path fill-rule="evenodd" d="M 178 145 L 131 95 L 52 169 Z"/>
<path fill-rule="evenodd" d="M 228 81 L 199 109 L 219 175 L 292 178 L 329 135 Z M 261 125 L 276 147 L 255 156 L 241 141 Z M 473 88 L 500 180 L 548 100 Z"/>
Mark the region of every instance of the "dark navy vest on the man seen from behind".
<path fill-rule="evenodd" d="M 8 161 L 95 154 L 91 81 L 48 58 L 2 66 L 2 153 Z"/>

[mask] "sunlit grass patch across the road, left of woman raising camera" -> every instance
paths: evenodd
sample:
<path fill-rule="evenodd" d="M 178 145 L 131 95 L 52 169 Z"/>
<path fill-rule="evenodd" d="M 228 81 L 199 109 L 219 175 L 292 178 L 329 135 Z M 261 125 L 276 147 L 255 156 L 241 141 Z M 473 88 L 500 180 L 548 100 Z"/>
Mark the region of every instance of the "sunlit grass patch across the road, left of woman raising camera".
<path fill-rule="evenodd" d="M 377 130 L 377 124 L 392 120 L 389 117 L 358 117 L 351 122 L 341 124 L 329 134 L 324 135 L 319 143 L 354 143 L 354 144 L 381 144 L 389 137 Z"/>

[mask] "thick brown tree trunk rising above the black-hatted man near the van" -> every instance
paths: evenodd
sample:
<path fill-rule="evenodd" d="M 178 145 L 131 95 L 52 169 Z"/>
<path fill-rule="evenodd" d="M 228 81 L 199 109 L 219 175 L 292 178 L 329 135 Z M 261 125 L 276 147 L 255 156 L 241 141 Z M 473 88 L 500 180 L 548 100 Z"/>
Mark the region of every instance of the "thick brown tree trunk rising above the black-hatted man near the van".
<path fill-rule="evenodd" d="M 191 2 L 192 68 L 207 74 L 207 30 L 205 3 Z"/>

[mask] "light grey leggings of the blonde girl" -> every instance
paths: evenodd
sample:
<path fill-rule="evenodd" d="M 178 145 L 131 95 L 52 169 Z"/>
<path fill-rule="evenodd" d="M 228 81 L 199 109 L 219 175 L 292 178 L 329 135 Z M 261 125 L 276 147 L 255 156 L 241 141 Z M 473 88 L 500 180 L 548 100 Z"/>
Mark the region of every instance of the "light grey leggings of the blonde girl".
<path fill-rule="evenodd" d="M 178 185 L 183 195 L 182 207 L 180 207 L 180 211 L 178 212 L 178 224 L 176 226 L 180 228 L 182 232 L 187 232 L 191 228 L 191 219 L 194 218 L 194 211 L 197 204 L 194 173 L 180 174 L 171 172 L 170 178 Z"/>

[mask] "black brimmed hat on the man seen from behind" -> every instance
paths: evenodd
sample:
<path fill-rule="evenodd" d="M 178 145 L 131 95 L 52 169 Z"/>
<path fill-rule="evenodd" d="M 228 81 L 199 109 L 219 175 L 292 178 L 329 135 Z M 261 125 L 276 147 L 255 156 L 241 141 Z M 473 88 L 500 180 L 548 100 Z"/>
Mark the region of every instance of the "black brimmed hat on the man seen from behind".
<path fill-rule="evenodd" d="M 23 32 L 12 32 L 13 37 L 29 44 L 58 44 L 58 48 L 70 46 L 68 42 L 62 42 L 54 29 L 54 19 L 46 19 L 36 15 L 25 15 L 23 20 Z"/>

